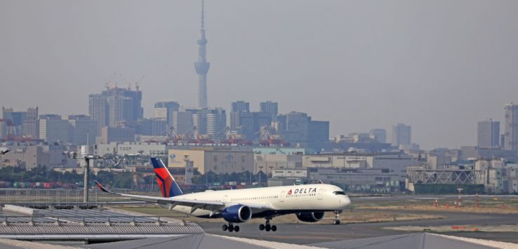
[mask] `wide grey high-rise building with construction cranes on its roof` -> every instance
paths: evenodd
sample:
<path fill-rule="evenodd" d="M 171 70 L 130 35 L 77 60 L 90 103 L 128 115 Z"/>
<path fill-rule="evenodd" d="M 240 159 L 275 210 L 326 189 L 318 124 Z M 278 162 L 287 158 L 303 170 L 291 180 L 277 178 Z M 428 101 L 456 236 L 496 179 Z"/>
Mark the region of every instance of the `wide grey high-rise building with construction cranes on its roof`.
<path fill-rule="evenodd" d="M 88 99 L 88 112 L 99 128 L 135 123 L 144 116 L 142 91 L 138 89 L 107 88 L 100 94 L 91 94 Z"/>

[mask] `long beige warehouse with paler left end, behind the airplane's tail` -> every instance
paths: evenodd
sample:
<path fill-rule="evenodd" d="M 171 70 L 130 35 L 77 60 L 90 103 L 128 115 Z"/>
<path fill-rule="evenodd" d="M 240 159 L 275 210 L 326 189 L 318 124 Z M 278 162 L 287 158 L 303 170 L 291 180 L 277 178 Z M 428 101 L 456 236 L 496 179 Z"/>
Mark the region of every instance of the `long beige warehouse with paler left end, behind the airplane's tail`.
<path fill-rule="evenodd" d="M 254 171 L 253 152 L 232 147 L 191 147 L 169 149 L 168 167 L 185 168 L 185 159 L 194 163 L 199 173 L 239 173 Z"/>

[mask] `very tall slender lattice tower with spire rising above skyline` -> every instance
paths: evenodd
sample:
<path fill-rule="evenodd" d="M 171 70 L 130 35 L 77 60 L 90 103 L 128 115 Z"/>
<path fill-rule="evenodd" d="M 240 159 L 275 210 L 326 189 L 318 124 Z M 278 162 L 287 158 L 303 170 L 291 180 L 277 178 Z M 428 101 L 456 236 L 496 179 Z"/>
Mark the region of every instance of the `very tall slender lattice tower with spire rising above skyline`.
<path fill-rule="evenodd" d="M 198 74 L 198 95 L 197 95 L 197 107 L 207 108 L 207 72 L 210 63 L 206 59 L 206 44 L 205 39 L 205 27 L 204 27 L 204 0 L 201 0 L 201 37 L 198 40 L 198 61 L 194 62 L 194 69 Z"/>

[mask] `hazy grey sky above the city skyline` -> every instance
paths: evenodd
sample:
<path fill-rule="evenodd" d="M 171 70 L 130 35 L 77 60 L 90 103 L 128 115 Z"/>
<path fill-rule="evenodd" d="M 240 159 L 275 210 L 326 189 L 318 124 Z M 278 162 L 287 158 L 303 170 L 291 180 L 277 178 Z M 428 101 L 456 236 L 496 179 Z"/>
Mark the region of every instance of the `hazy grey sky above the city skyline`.
<path fill-rule="evenodd" d="M 208 104 L 279 102 L 331 135 L 401 122 L 424 149 L 476 144 L 518 100 L 518 1 L 207 0 Z M 0 105 L 88 114 L 88 94 L 145 75 L 194 106 L 200 1 L 0 0 Z M 122 76 L 118 76 L 122 75 Z M 121 80 L 122 81 L 122 80 Z M 119 87 L 126 84 L 119 83 Z"/>

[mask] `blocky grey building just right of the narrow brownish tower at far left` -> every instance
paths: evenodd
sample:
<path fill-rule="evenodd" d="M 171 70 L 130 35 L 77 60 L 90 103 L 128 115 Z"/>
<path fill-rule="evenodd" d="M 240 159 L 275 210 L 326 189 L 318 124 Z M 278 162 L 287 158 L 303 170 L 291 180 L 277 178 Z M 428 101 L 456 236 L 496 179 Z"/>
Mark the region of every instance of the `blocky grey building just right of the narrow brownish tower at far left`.
<path fill-rule="evenodd" d="M 70 142 L 71 125 L 60 115 L 39 116 L 39 139 L 46 142 Z"/>

